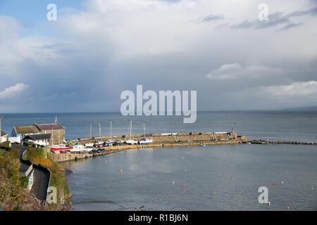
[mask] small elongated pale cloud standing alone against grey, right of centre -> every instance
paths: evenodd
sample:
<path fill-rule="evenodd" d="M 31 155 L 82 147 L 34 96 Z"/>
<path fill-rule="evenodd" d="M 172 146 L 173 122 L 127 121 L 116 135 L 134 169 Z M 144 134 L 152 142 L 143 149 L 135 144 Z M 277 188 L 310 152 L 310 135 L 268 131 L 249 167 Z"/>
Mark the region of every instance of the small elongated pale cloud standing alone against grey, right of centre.
<path fill-rule="evenodd" d="M 281 70 L 277 68 L 269 68 L 262 65 L 242 66 L 239 63 L 232 63 L 221 65 L 220 68 L 209 72 L 206 77 L 216 80 L 254 79 L 279 75 L 280 73 Z"/>

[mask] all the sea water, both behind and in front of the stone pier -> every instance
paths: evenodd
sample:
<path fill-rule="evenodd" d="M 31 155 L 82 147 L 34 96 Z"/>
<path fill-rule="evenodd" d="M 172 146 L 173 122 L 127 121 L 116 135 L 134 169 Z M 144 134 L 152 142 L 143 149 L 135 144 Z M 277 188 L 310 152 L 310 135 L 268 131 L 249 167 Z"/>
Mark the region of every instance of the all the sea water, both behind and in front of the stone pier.
<path fill-rule="evenodd" d="M 2 129 L 57 121 L 66 139 L 129 134 L 231 131 L 249 140 L 317 142 L 317 111 L 198 112 L 182 116 L 120 113 L 2 114 Z M 101 129 L 99 130 L 99 124 Z M 69 169 L 73 210 L 317 210 L 317 145 L 212 145 L 125 150 Z M 267 190 L 271 204 L 259 202 Z M 259 192 L 260 190 L 260 192 Z"/>

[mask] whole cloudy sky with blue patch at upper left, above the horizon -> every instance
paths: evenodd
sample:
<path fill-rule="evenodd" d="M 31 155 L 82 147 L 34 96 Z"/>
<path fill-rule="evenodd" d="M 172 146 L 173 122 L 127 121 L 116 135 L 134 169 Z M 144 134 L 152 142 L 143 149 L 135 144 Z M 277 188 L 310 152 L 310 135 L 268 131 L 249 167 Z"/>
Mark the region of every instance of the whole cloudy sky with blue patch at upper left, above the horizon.
<path fill-rule="evenodd" d="M 0 0 L 0 113 L 118 112 L 137 84 L 198 110 L 317 105 L 316 25 L 313 0 Z"/>

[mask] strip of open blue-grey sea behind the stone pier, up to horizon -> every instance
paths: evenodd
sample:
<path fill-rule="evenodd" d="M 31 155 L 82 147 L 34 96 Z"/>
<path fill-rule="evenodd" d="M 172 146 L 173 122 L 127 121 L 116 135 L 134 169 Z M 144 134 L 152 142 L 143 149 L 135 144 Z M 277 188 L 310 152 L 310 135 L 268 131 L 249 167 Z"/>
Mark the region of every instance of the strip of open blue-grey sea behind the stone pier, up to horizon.
<path fill-rule="evenodd" d="M 135 116 L 124 117 L 120 113 L 23 113 L 3 114 L 2 129 L 11 134 L 13 126 L 54 122 L 66 127 L 66 139 L 90 134 L 93 136 L 110 135 L 112 121 L 113 135 L 128 134 L 130 120 L 132 133 L 142 134 L 143 123 L 147 133 L 181 131 L 230 131 L 232 124 L 238 135 L 249 139 L 317 141 L 317 112 L 284 111 L 226 111 L 197 113 L 197 121 L 184 124 L 182 116 Z"/>

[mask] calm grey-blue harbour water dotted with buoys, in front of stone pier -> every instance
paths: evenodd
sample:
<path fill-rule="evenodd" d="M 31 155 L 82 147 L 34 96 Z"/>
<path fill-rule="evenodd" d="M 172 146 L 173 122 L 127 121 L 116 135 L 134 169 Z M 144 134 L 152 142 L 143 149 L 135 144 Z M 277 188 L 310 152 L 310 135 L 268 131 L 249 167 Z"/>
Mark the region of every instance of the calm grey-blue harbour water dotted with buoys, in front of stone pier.
<path fill-rule="evenodd" d="M 316 146 L 244 144 L 144 148 L 62 165 L 73 171 L 74 210 L 317 210 L 316 162 Z M 260 186 L 271 205 L 258 202 Z"/>

